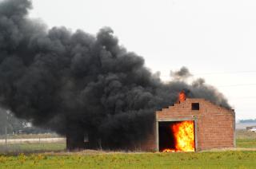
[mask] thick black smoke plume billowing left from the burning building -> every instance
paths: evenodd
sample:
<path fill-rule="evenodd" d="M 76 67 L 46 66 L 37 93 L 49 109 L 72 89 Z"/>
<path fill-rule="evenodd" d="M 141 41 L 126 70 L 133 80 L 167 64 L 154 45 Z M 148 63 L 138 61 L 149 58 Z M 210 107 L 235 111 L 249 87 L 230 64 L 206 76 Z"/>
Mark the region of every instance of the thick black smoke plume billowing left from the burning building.
<path fill-rule="evenodd" d="M 0 103 L 19 118 L 119 148 L 151 132 L 155 110 L 174 104 L 184 88 L 230 108 L 203 81 L 162 83 L 142 57 L 118 45 L 112 29 L 97 36 L 46 29 L 27 18 L 30 8 L 29 0 L 0 2 Z"/>

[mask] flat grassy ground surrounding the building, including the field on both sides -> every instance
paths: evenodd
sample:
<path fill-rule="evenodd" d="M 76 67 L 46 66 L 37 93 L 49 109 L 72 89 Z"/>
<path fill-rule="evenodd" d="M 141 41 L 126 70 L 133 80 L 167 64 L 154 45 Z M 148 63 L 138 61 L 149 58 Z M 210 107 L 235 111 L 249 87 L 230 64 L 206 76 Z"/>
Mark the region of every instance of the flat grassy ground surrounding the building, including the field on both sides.
<path fill-rule="evenodd" d="M 65 151 L 65 142 L 2 144 L 0 168 L 256 168 L 256 133 L 236 134 L 237 148 L 202 152 L 71 153 Z"/>

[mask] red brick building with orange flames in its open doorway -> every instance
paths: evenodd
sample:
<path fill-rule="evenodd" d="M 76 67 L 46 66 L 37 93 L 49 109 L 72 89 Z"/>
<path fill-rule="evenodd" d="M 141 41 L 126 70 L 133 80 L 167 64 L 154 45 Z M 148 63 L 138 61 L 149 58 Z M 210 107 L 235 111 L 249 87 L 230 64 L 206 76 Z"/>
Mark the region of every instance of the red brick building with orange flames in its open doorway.
<path fill-rule="evenodd" d="M 202 151 L 235 147 L 235 113 L 205 99 L 187 98 L 155 114 L 142 150 Z"/>

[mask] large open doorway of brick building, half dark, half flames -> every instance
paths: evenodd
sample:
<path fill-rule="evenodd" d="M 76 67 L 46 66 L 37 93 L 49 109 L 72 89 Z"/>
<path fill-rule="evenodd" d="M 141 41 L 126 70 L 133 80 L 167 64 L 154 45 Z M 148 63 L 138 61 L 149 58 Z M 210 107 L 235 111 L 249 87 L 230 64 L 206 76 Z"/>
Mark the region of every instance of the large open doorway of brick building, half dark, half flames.
<path fill-rule="evenodd" d="M 159 151 L 194 151 L 194 121 L 159 121 Z"/>

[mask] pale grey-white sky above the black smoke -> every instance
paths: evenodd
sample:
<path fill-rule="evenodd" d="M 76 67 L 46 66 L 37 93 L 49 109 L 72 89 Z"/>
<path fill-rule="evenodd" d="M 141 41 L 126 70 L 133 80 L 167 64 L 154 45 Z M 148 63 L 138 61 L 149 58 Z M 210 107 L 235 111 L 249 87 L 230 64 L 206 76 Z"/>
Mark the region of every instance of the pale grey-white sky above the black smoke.
<path fill-rule="evenodd" d="M 255 0 L 33 0 L 30 17 L 50 27 L 97 33 L 110 26 L 120 43 L 163 81 L 183 65 L 214 85 L 237 119 L 256 119 Z M 193 79 L 190 79 L 192 81 Z"/>

